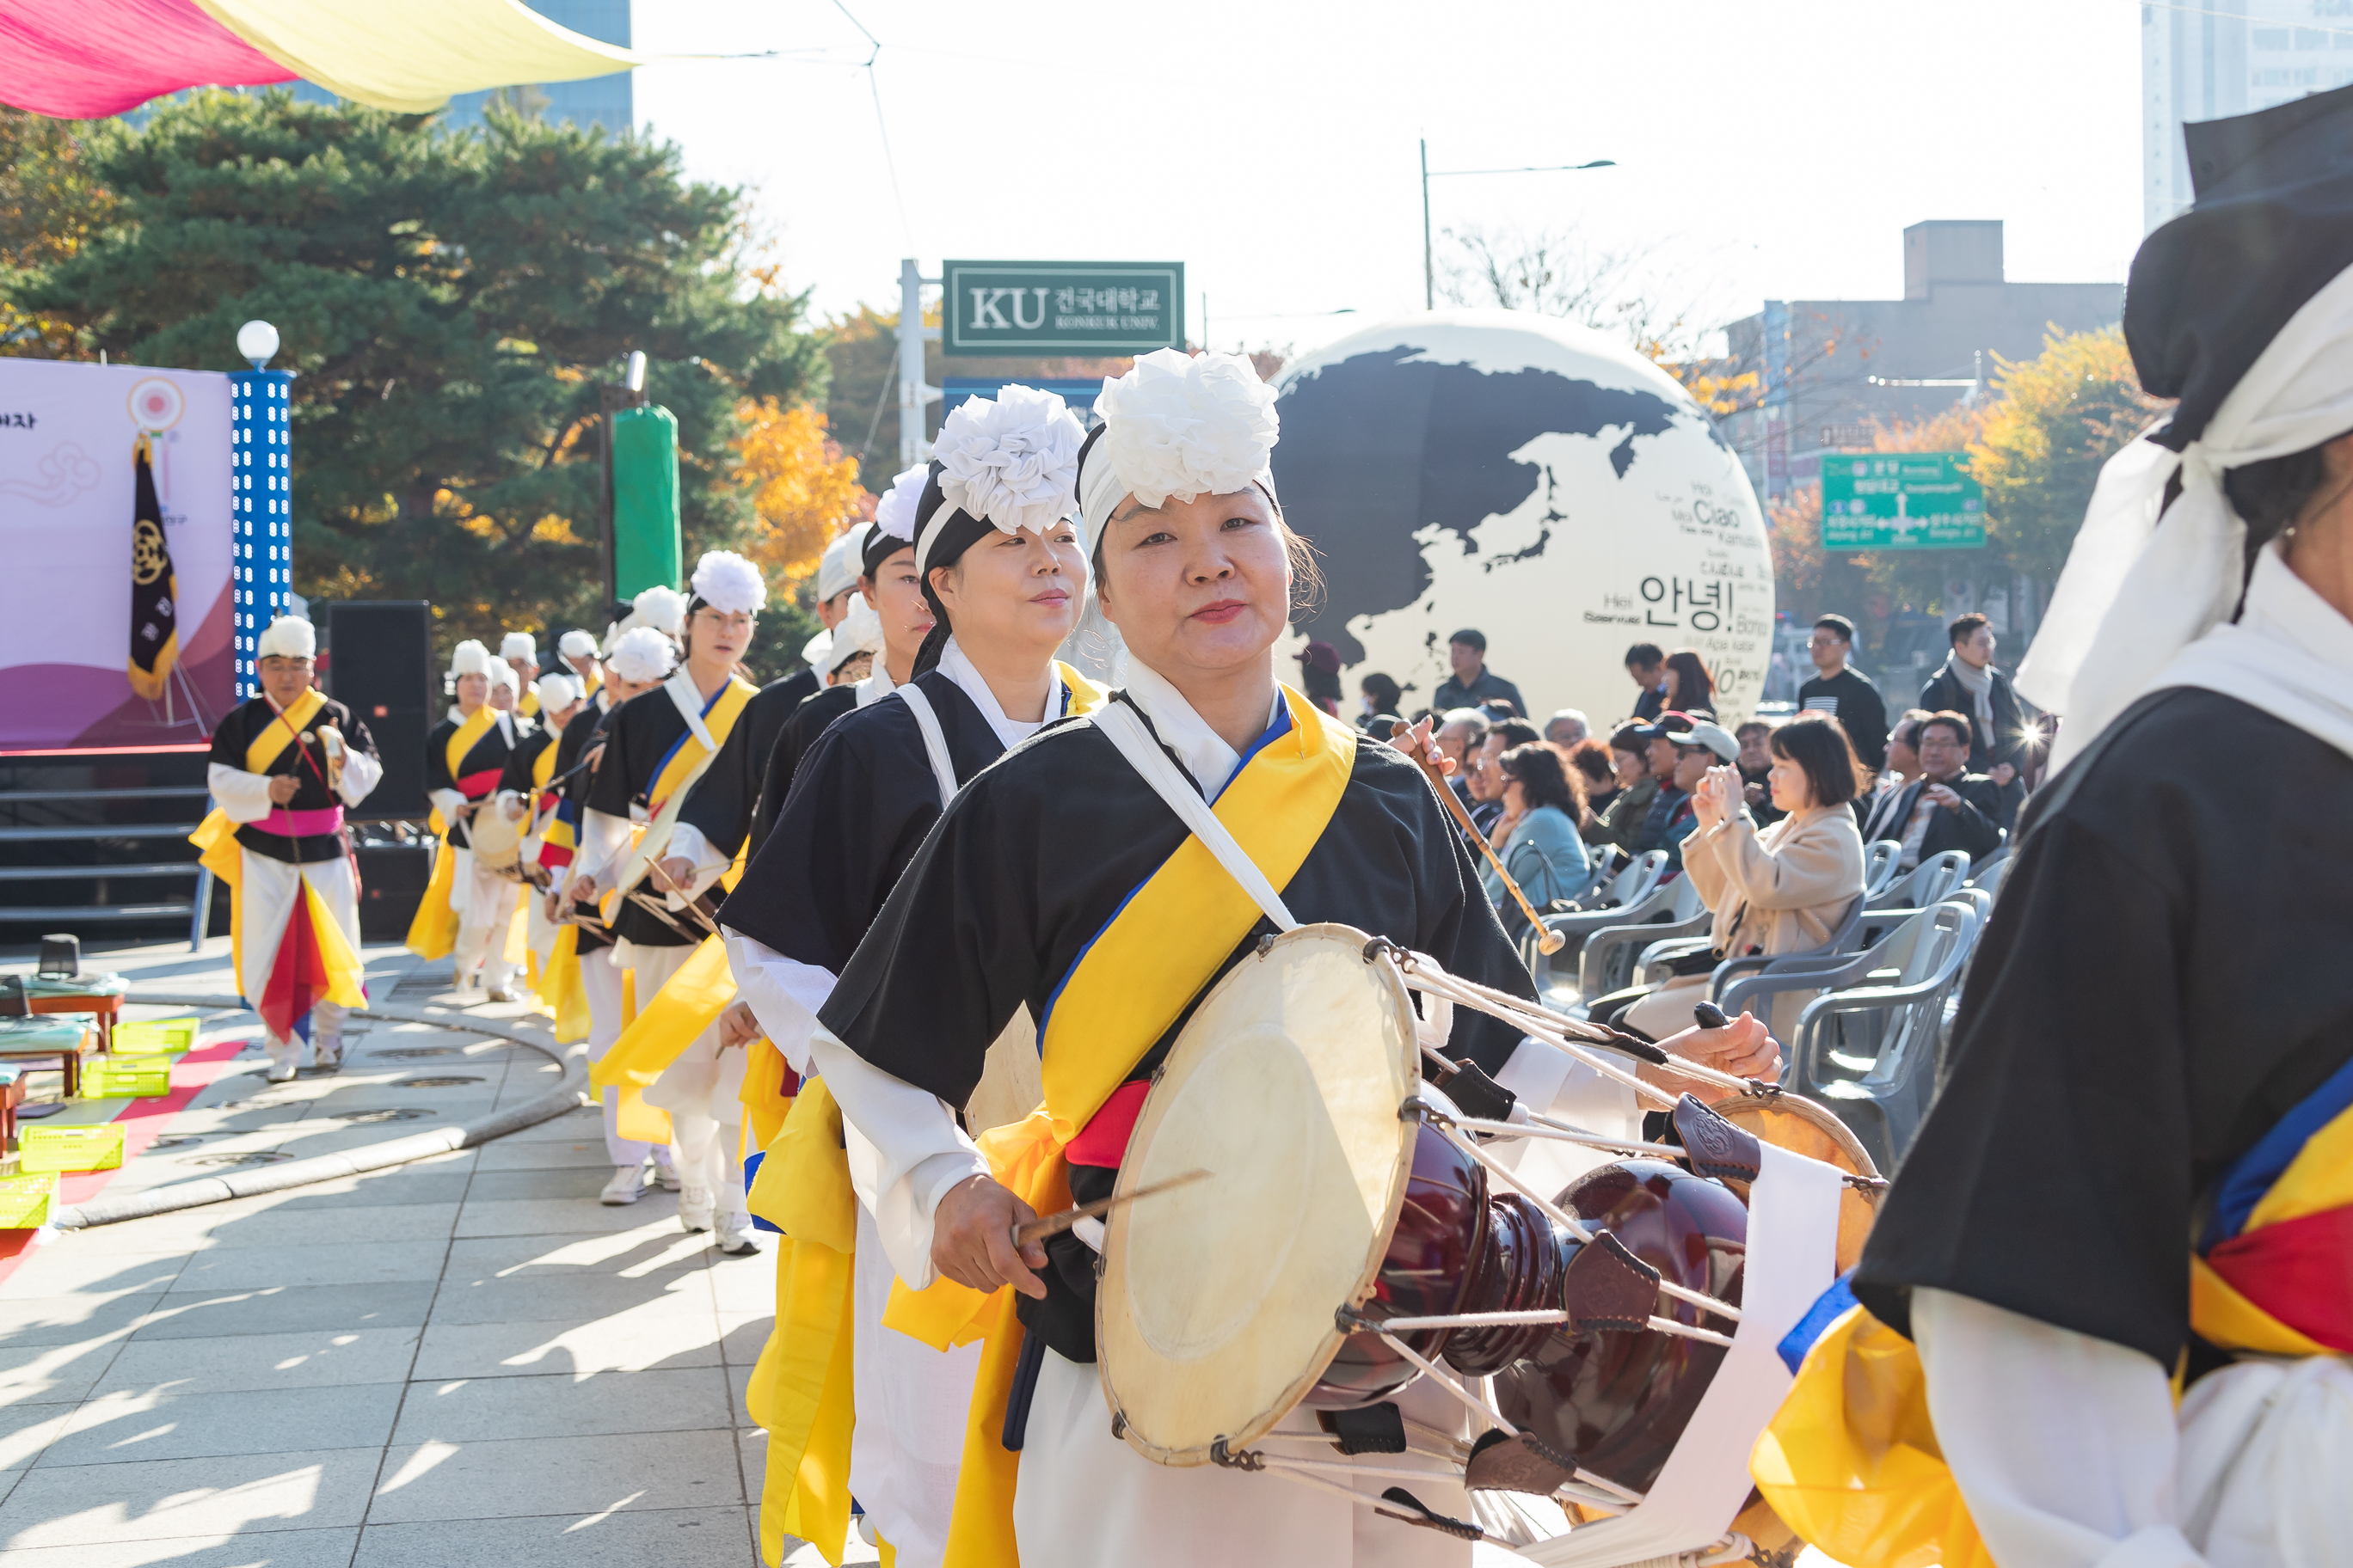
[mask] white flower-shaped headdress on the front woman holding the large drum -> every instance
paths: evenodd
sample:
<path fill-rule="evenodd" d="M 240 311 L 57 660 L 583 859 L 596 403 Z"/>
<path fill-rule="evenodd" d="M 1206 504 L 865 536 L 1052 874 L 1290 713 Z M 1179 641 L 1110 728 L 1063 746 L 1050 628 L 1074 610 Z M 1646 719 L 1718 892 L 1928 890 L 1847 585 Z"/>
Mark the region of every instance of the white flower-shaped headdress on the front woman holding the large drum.
<path fill-rule="evenodd" d="M 1275 494 L 1266 458 L 1282 435 L 1275 388 L 1245 355 L 1181 355 L 1155 348 L 1094 400 L 1104 435 L 1078 480 L 1080 512 L 1101 534 L 1120 496 L 1160 505 L 1169 496 L 1231 496 L 1254 482 Z"/>

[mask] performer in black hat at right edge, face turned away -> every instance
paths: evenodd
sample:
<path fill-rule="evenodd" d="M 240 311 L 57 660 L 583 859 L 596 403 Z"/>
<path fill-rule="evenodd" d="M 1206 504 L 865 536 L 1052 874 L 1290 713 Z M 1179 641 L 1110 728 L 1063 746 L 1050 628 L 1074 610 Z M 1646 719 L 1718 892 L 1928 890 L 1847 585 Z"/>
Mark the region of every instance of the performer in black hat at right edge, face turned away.
<path fill-rule="evenodd" d="M 2054 776 L 1861 1309 L 1758 1450 L 1847 1563 L 2353 1549 L 2353 89 L 2186 134 L 2198 200 L 2125 292 L 2179 402 L 2101 470 L 2019 670 Z M 1894 1389 L 1911 1349 L 1925 1420 L 1849 1415 L 1847 1368 Z M 1920 1493 L 1871 1488 L 1889 1425 Z"/>

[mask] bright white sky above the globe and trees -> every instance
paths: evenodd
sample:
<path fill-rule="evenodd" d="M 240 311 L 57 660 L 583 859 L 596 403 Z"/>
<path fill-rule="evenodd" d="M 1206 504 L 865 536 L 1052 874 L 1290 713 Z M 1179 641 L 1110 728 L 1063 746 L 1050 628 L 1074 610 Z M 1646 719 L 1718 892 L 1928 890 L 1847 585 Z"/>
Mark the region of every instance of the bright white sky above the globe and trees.
<path fill-rule="evenodd" d="M 744 183 L 816 310 L 896 306 L 899 256 L 1184 261 L 1186 329 L 1313 348 L 1421 308 L 1433 221 L 1654 247 L 1718 320 L 1892 299 L 1901 228 L 2002 219 L 2007 273 L 2115 282 L 2141 240 L 2132 0 L 635 5 L 635 47 L 812 52 L 638 71 L 638 125 Z M 1355 315 L 1325 315 L 1353 308 Z"/>

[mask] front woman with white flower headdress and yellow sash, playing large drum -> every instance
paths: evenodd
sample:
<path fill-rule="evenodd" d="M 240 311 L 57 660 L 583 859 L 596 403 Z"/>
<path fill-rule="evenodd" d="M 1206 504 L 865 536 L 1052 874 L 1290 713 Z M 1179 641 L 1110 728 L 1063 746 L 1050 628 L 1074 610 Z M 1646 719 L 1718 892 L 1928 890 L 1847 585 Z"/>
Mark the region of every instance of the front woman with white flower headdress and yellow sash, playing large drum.
<path fill-rule="evenodd" d="M 1273 388 L 1240 355 L 1158 353 L 1106 383 L 1096 409 L 1106 425 L 1080 463 L 1078 498 L 1104 520 L 1096 592 L 1127 642 L 1129 686 L 965 788 L 809 1034 L 852 1138 L 871 1239 L 908 1286 L 946 1276 L 894 1300 L 885 1321 L 934 1345 L 974 1328 L 988 1335 L 946 1561 L 1468 1563 L 1468 1544 L 1341 1497 L 1139 1458 L 1113 1436 L 1092 1368 L 1087 1244 L 1071 1234 L 1016 1253 L 1009 1241 L 1035 1211 L 1113 1190 L 1153 1067 L 1191 1004 L 1271 929 L 1214 851 L 1184 853 L 1188 830 L 1162 790 L 1214 802 L 1242 842 L 1235 853 L 1280 889 L 1287 914 L 1344 919 L 1433 954 L 1449 973 L 1532 994 L 1424 773 L 1275 684 L 1304 548 L 1266 470 Z M 918 536 L 918 555 L 927 538 Z M 939 599 L 941 625 L 962 639 L 960 597 Z M 929 677 L 915 684 L 929 689 Z M 805 802 L 824 799 L 814 769 L 826 752 L 885 715 L 889 705 L 852 715 L 819 741 L 769 853 Z M 1139 771 L 1146 764 L 1158 780 Z M 753 891 L 762 903 L 739 914 Z M 755 1006 L 807 973 L 776 947 L 795 914 L 772 912 L 774 893 L 748 879 L 727 907 L 739 961 L 762 971 L 762 987 L 748 985 Z M 1024 1173 L 1014 1192 L 953 1107 L 984 1081 L 991 1041 L 1024 1006 L 1045 1020 L 1033 1034 L 1045 1100 L 988 1140 L 1009 1161 L 1002 1168 Z M 1457 1016 L 1433 1044 L 1489 1072 L 1520 1046 L 1487 1016 Z M 1694 1053 L 1758 1056 L 1769 1041 L 1744 1020 Z M 1026 1408 L 1009 1403 L 1016 1387 Z M 1405 1403 L 1417 1420 L 1459 1429 L 1433 1389 L 1409 1389 Z M 1440 1512 L 1449 1502 L 1468 1512 L 1461 1493 L 1421 1495 Z"/>

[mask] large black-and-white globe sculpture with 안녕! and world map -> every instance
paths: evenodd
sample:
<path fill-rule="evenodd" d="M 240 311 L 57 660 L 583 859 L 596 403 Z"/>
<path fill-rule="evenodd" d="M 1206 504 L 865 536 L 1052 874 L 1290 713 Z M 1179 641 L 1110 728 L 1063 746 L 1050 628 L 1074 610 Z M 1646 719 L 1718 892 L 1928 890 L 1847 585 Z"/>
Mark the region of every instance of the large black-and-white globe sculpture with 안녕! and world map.
<path fill-rule="evenodd" d="M 1355 331 L 1285 369 L 1275 489 L 1318 550 L 1297 623 L 1407 715 L 1447 679 L 1447 639 L 1541 724 L 1626 715 L 1626 649 L 1699 649 L 1715 712 L 1748 715 L 1772 654 L 1772 552 L 1739 458 L 1664 369 L 1584 327 L 1438 310 Z"/>

